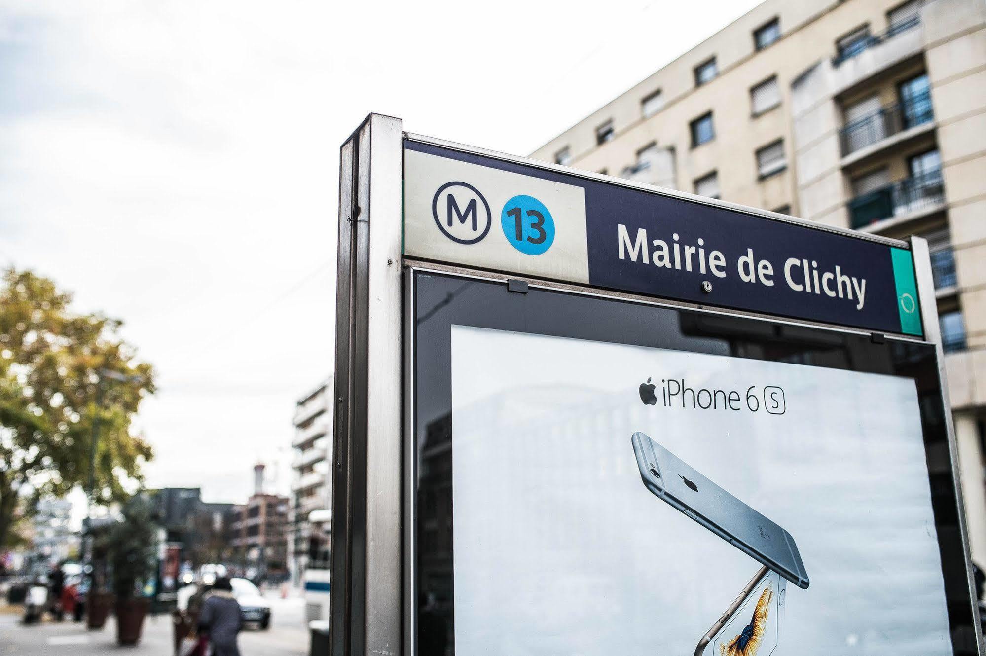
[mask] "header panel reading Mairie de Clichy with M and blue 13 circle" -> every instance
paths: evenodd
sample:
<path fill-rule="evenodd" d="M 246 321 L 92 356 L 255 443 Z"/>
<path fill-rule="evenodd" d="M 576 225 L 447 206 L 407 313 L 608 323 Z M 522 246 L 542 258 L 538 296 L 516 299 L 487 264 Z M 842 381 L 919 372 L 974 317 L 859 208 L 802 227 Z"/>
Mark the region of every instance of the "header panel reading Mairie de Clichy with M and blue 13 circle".
<path fill-rule="evenodd" d="M 406 255 L 922 334 L 905 249 L 413 140 L 404 168 Z"/>

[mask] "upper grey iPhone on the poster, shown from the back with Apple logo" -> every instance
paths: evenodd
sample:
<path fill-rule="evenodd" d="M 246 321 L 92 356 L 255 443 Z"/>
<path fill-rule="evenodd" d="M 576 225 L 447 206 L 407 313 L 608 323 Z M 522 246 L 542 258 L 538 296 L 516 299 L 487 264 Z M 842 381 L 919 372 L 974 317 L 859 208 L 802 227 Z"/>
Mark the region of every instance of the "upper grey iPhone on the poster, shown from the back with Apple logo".
<path fill-rule="evenodd" d="M 798 587 L 809 586 L 805 563 L 791 534 L 644 433 L 634 433 L 632 442 L 644 485 L 658 498 Z"/>

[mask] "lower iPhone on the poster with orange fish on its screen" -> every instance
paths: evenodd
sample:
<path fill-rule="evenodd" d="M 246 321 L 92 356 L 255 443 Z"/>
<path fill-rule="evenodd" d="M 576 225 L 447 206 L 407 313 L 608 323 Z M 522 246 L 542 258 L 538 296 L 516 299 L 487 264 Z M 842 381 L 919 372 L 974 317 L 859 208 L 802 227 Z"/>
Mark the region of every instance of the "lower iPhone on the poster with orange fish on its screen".
<path fill-rule="evenodd" d="M 761 567 L 698 641 L 695 656 L 770 656 L 781 640 L 786 589 L 780 574 Z"/>

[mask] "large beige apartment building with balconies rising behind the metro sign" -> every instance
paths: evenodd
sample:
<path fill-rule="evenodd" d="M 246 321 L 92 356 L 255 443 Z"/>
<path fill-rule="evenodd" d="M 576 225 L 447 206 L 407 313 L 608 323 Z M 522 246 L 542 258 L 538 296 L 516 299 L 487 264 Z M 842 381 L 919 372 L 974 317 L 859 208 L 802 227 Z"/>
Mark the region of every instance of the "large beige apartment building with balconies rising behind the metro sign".
<path fill-rule="evenodd" d="M 767 0 L 532 157 L 925 237 L 986 565 L 986 3 Z"/>

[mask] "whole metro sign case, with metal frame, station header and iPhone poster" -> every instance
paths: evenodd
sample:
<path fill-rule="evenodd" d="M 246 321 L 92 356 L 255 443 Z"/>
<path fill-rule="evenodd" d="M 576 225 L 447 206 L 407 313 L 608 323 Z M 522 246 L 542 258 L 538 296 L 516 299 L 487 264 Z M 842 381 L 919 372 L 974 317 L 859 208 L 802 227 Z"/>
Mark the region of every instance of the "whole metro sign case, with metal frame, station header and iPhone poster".
<path fill-rule="evenodd" d="M 926 244 L 342 149 L 332 653 L 979 654 Z"/>

